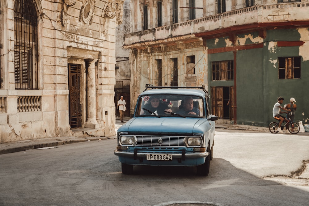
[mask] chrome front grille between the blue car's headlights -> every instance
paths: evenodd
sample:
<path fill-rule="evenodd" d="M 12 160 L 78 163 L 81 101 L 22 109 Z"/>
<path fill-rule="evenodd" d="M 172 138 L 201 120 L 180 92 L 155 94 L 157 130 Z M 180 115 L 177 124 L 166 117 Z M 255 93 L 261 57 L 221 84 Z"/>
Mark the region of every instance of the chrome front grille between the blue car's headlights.
<path fill-rule="evenodd" d="M 184 147 L 184 136 L 136 136 L 136 146 Z"/>

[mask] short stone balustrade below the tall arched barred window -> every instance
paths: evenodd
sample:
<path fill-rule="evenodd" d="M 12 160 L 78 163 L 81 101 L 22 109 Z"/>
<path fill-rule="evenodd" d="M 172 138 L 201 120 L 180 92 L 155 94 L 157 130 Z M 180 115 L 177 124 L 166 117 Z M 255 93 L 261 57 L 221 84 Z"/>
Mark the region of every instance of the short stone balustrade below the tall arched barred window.
<path fill-rule="evenodd" d="M 17 99 L 17 111 L 41 111 L 41 96 L 22 96 Z"/>

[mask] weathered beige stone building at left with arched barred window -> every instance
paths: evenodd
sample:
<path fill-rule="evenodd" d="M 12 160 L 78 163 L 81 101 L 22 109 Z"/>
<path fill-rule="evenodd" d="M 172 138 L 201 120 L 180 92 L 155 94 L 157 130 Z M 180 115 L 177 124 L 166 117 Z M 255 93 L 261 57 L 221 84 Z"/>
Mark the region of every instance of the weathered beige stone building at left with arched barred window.
<path fill-rule="evenodd" d="M 115 134 L 123 0 L 0 0 L 0 143 Z"/>

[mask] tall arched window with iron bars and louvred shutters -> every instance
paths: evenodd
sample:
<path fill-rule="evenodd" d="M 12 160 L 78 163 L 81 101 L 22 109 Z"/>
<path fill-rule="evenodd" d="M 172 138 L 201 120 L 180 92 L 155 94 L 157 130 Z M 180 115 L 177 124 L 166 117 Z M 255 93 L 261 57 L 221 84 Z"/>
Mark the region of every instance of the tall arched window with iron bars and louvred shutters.
<path fill-rule="evenodd" d="M 15 1 L 15 89 L 38 89 L 37 21 L 32 1 Z"/>

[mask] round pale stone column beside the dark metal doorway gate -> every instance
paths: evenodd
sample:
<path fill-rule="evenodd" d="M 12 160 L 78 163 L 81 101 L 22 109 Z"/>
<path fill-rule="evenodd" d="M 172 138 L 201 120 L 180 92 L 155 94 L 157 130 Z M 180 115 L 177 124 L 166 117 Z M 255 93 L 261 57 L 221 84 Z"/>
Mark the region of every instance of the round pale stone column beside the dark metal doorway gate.
<path fill-rule="evenodd" d="M 87 61 L 89 66 L 87 68 L 87 120 L 85 122 L 86 128 L 99 128 L 99 123 L 96 121 L 96 96 L 95 96 L 95 62 L 96 59 Z"/>

